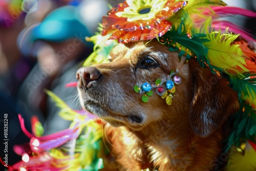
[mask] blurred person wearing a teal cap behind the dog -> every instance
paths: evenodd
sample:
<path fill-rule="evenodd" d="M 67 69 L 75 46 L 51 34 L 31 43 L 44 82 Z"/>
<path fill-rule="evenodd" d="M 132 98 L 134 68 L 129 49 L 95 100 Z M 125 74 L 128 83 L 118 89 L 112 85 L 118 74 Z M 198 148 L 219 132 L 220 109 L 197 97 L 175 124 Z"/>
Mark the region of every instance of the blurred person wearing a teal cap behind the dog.
<path fill-rule="evenodd" d="M 44 123 L 45 134 L 69 127 L 58 115 L 45 89 L 51 90 L 72 109 L 76 106 L 75 88 L 65 84 L 76 81 L 79 64 L 92 52 L 92 42 L 86 37 L 97 31 L 101 16 L 108 11 L 102 0 L 72 1 L 52 11 L 40 24 L 24 29 L 18 39 L 24 55 L 34 56 L 38 63 L 19 90 L 18 106 L 31 117 L 37 115 Z"/>

